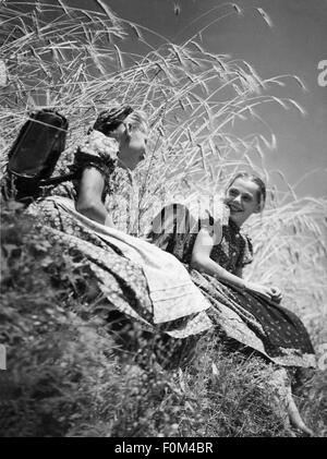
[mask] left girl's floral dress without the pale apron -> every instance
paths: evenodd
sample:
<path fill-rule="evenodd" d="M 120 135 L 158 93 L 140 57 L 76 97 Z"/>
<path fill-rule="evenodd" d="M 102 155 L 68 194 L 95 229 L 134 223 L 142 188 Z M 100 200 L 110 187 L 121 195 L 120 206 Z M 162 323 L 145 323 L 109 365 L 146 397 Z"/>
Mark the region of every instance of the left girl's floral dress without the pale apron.
<path fill-rule="evenodd" d="M 112 176 L 117 171 L 118 143 L 93 131 L 80 142 L 74 150 L 63 153 L 64 162 L 59 165 L 58 172 L 75 172 L 81 177 L 83 170 L 96 168 L 102 176 L 105 186 L 102 202 L 114 188 Z M 68 162 L 73 164 L 68 166 Z M 146 279 L 140 266 L 125 258 L 121 252 L 95 234 L 94 231 L 76 221 L 69 213 L 62 212 L 56 203 L 56 196 L 74 200 L 78 193 L 78 177 L 72 182 L 64 182 L 48 191 L 48 196 L 32 204 L 27 212 L 37 219 L 39 230 L 49 240 L 63 243 L 73 254 L 78 254 L 88 268 L 89 276 L 96 279 L 106 295 L 105 307 L 108 313 L 121 311 L 140 322 L 150 319 L 150 299 Z M 93 279 L 89 279 L 89 282 Z"/>

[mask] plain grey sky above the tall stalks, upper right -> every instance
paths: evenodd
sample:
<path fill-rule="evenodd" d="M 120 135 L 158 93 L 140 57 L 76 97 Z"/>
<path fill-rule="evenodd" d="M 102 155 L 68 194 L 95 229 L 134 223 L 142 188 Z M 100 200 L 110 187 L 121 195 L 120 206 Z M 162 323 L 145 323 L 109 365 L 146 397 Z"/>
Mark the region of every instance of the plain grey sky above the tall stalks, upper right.
<path fill-rule="evenodd" d="M 219 12 L 217 7 L 226 3 L 222 0 L 100 1 L 120 17 L 177 44 L 218 17 L 222 10 Z M 96 0 L 64 2 L 99 10 Z M 306 92 L 289 78 L 284 88 L 278 93 L 274 89 L 271 94 L 295 99 L 306 111 L 305 117 L 272 104 L 261 108 L 259 113 L 278 142 L 276 150 L 267 152 L 266 167 L 270 171 L 281 170 L 291 184 L 299 182 L 296 193 L 301 196 L 327 196 L 327 85 L 318 85 L 318 64 L 327 61 L 327 0 L 237 0 L 235 3 L 244 14 L 214 22 L 202 34 L 203 45 L 208 51 L 247 61 L 264 78 L 295 74 L 303 81 Z M 272 27 L 255 8 L 265 10 Z M 154 37 L 153 44 L 160 43 L 156 44 Z M 242 129 L 249 134 L 253 128 L 249 121 Z M 282 186 L 278 180 L 276 174 L 276 184 Z"/>

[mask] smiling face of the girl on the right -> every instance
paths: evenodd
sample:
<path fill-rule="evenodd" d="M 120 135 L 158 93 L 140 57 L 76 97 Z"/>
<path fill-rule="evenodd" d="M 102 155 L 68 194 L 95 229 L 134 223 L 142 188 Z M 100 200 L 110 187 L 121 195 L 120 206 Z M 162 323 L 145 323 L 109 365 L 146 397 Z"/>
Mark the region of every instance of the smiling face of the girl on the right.
<path fill-rule="evenodd" d="M 226 192 L 225 204 L 230 219 L 241 227 L 247 218 L 259 212 L 258 185 L 249 179 L 237 179 Z"/>

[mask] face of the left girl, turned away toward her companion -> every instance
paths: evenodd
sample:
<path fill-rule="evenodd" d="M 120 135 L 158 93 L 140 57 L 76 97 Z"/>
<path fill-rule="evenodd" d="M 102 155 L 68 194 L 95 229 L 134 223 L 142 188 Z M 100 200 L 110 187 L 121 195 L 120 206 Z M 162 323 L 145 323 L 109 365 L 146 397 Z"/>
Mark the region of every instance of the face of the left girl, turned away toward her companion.
<path fill-rule="evenodd" d="M 119 143 L 118 158 L 120 162 L 130 170 L 134 170 L 138 162 L 145 158 L 147 131 L 132 129 L 130 124 L 126 124 Z"/>

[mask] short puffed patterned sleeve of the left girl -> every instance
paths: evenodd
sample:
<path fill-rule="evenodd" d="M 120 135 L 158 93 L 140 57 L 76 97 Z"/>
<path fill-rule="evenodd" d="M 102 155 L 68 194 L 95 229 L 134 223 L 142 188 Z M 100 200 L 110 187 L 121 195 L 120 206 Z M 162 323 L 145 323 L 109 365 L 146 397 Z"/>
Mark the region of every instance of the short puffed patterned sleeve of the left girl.
<path fill-rule="evenodd" d="M 76 147 L 71 171 L 76 172 L 74 185 L 78 192 L 82 173 L 87 168 L 97 169 L 105 180 L 102 201 L 109 192 L 109 178 L 117 166 L 118 142 L 98 131 L 92 131 Z"/>

